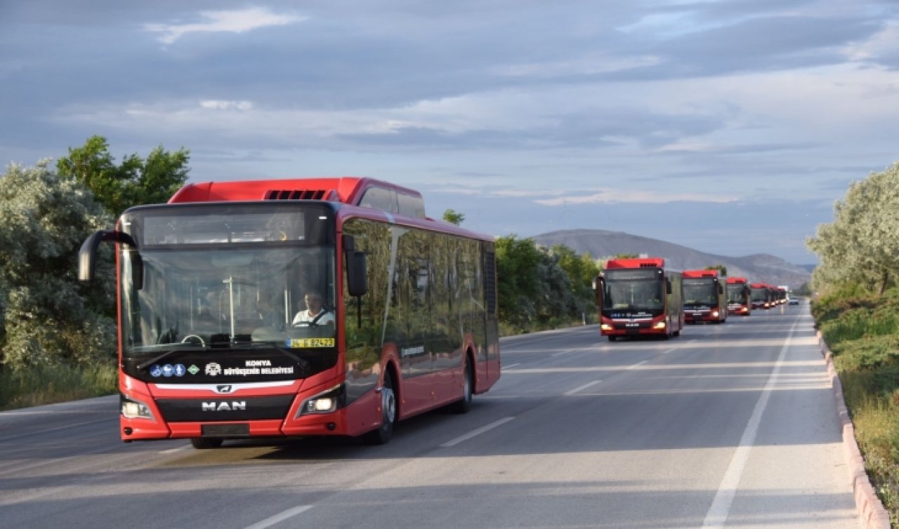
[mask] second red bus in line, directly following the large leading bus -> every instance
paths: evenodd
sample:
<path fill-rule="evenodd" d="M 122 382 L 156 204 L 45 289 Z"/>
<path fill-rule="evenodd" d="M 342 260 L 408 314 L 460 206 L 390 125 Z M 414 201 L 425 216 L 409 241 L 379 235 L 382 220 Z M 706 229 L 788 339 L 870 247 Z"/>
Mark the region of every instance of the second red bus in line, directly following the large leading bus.
<path fill-rule="evenodd" d="M 683 329 L 681 272 L 662 258 L 610 259 L 596 281 L 601 336 L 679 336 Z"/>

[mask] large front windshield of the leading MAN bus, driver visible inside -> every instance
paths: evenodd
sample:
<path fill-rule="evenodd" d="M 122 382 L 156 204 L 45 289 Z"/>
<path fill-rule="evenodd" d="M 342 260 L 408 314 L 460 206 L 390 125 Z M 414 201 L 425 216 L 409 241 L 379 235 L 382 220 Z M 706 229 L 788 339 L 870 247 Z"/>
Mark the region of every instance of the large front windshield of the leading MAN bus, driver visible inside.
<path fill-rule="evenodd" d="M 137 243 L 120 247 L 126 372 L 212 349 L 334 364 L 333 213 L 265 206 L 141 207 L 122 216 Z"/>

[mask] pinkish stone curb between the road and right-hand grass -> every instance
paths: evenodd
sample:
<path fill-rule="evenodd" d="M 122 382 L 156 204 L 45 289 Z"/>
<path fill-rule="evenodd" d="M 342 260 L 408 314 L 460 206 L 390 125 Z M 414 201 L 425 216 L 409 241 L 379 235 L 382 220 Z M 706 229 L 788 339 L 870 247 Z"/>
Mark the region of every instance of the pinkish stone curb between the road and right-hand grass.
<path fill-rule="evenodd" d="M 824 342 L 821 331 L 815 331 L 815 334 L 821 354 L 827 363 L 827 375 L 831 378 L 833 398 L 837 402 L 837 415 L 840 416 L 842 424 L 843 450 L 849 461 L 849 477 L 852 481 L 852 493 L 855 496 L 855 506 L 859 511 L 861 526 L 865 529 L 890 529 L 890 515 L 886 512 L 880 498 L 877 498 L 877 494 L 874 493 L 874 487 L 868 479 L 868 472 L 865 472 L 865 459 L 861 456 L 859 444 L 855 440 L 855 427 L 852 426 L 852 419 L 846 408 L 846 401 L 843 399 L 840 376 L 837 375 L 837 370 L 833 366 L 833 353 Z"/>

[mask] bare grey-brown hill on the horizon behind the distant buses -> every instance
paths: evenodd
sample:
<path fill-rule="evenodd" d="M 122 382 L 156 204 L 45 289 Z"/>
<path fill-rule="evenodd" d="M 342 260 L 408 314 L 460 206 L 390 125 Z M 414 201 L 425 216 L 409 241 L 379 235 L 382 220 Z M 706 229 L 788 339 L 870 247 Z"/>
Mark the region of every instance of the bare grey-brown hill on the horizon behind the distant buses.
<path fill-rule="evenodd" d="M 723 264 L 727 267 L 728 276 L 743 276 L 752 282 L 788 285 L 791 288 L 800 287 L 811 278 L 808 269 L 766 253 L 726 257 L 692 250 L 672 242 L 622 232 L 561 230 L 535 235 L 530 239 L 546 247 L 565 244 L 578 253 L 590 253 L 594 259 L 606 258 L 619 253 L 645 253 L 651 257 L 663 257 L 665 264 L 671 266 L 672 269 L 704 269 L 708 266 Z"/>

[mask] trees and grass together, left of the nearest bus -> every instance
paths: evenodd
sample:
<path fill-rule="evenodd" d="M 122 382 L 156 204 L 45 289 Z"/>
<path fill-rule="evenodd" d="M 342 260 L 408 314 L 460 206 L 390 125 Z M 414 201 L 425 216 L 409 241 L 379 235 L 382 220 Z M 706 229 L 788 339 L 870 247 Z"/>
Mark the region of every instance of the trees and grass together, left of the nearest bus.
<path fill-rule="evenodd" d="M 160 146 L 116 163 L 91 137 L 55 171 L 43 160 L 0 175 L 0 410 L 115 392 L 115 286 L 79 283 L 78 250 L 121 210 L 165 201 L 188 159 Z M 111 248 L 101 251 L 97 275 L 111 278 Z"/>

